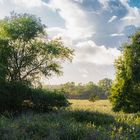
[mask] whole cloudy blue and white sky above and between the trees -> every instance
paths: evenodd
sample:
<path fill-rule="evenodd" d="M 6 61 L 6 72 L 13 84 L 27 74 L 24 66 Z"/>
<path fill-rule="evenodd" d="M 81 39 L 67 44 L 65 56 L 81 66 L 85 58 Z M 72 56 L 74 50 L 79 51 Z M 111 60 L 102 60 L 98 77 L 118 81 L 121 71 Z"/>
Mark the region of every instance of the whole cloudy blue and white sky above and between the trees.
<path fill-rule="evenodd" d="M 40 17 L 50 39 L 75 50 L 63 76 L 42 78 L 45 84 L 114 79 L 119 47 L 140 26 L 140 0 L 0 0 L 0 19 L 12 11 Z"/>

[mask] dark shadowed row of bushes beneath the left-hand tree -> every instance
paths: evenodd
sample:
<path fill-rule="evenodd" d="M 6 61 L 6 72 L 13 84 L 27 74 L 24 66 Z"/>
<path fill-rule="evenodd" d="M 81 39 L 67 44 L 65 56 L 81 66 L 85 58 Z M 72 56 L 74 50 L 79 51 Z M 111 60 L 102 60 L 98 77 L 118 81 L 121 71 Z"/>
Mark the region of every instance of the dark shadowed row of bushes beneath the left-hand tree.
<path fill-rule="evenodd" d="M 6 83 L 0 86 L 0 112 L 19 112 L 26 109 L 47 111 L 68 106 L 60 92 L 33 89 L 21 83 Z"/>

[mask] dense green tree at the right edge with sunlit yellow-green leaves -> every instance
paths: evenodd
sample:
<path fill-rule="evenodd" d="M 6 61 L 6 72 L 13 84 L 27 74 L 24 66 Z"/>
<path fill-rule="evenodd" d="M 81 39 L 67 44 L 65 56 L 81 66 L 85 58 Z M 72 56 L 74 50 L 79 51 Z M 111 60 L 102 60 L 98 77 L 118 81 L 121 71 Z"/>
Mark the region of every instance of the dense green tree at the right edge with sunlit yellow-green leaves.
<path fill-rule="evenodd" d="M 140 32 L 136 32 L 122 48 L 115 61 L 116 79 L 110 100 L 115 111 L 140 111 Z"/>

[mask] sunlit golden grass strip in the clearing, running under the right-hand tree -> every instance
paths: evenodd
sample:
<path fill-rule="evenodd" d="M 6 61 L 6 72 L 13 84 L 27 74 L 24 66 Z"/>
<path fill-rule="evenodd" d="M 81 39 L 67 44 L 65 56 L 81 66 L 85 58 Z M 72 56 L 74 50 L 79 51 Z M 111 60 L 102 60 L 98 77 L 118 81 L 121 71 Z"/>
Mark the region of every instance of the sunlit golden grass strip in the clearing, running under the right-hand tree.
<path fill-rule="evenodd" d="M 97 100 L 95 102 L 88 100 L 69 100 L 69 102 L 71 103 L 71 110 L 85 110 L 104 113 L 113 116 L 116 121 L 140 125 L 140 113 L 127 114 L 123 112 L 113 112 L 112 105 L 109 100 Z"/>

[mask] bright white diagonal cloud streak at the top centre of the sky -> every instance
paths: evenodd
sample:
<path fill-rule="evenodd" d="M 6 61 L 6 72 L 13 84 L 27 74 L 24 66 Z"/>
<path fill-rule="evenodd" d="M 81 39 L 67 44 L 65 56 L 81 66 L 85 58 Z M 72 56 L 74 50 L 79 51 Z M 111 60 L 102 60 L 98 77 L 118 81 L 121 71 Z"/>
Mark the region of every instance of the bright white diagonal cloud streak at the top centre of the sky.
<path fill-rule="evenodd" d="M 85 12 L 70 0 L 51 0 L 49 6 L 57 10 L 65 20 L 66 34 L 72 40 L 91 37 L 93 26 L 89 25 L 88 16 Z"/>

